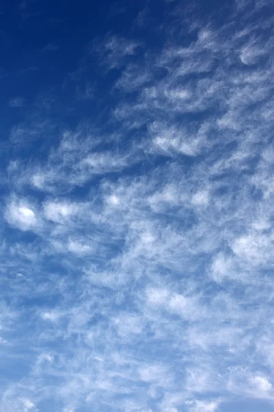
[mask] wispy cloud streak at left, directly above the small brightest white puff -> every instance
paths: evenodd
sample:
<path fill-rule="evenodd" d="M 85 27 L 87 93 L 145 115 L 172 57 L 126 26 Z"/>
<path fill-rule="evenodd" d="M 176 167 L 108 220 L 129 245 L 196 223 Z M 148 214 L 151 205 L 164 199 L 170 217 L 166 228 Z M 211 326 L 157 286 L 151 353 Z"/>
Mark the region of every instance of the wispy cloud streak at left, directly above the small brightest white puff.
<path fill-rule="evenodd" d="M 39 131 L 34 130 L 34 134 Z M 42 131 L 46 132 L 47 126 Z M 121 172 L 141 161 L 142 152 L 138 148 L 133 147 L 129 152 L 125 152 L 125 148 L 115 152 L 100 150 L 101 140 L 96 133 L 97 130 L 92 130 L 91 126 L 90 130 L 85 126 L 79 126 L 75 133 L 65 131 L 60 145 L 51 150 L 47 161 L 28 165 L 25 175 L 17 176 L 15 173 L 14 180 L 18 182 L 20 179 L 21 185 L 58 194 L 58 190 L 63 192 L 75 186 L 83 186 L 96 176 Z M 12 141 L 24 141 L 24 136 L 25 130 L 12 130 Z M 114 138 L 115 136 L 106 137 L 110 143 Z"/>

